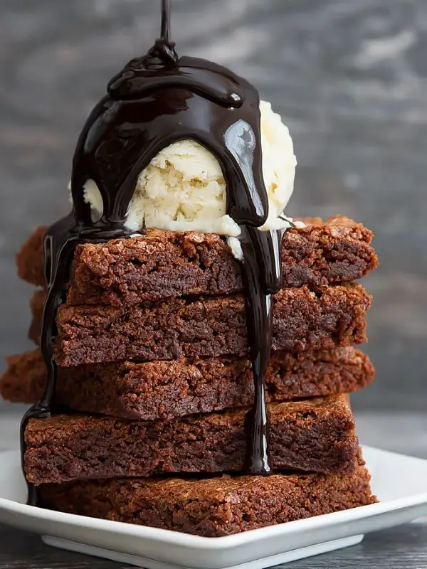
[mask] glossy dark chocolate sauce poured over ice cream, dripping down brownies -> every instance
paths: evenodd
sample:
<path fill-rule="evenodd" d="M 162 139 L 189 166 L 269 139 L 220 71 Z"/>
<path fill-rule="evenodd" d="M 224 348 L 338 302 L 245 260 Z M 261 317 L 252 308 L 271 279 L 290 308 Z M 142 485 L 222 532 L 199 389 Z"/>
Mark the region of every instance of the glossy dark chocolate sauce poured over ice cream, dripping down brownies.
<path fill-rule="evenodd" d="M 137 177 L 172 142 L 194 139 L 218 159 L 227 187 L 227 213 L 241 227 L 248 344 L 255 402 L 248 413 L 245 471 L 271 472 L 264 376 L 273 331 L 272 294 L 280 289 L 280 231 L 260 231 L 268 216 L 264 186 L 257 90 L 230 70 L 207 60 L 179 57 L 169 33 L 169 1 L 162 2 L 162 37 L 147 55 L 131 60 L 112 78 L 107 95 L 91 112 L 73 157 L 73 211 L 46 233 L 48 297 L 43 312 L 41 351 L 48 383 L 41 400 L 23 418 L 21 447 L 30 418 L 46 418 L 55 404 L 53 343 L 56 313 L 78 243 L 129 236 L 125 228 Z M 100 190 L 103 213 L 93 222 L 84 185 Z M 36 504 L 30 485 L 28 501 Z"/>

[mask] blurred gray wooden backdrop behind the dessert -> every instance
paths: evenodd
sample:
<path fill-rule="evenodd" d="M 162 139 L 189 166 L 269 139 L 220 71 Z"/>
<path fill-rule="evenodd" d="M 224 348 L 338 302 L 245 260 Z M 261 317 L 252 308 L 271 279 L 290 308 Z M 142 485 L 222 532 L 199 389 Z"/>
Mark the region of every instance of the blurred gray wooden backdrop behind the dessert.
<path fill-rule="evenodd" d="M 427 1 L 172 0 L 181 53 L 250 78 L 295 142 L 289 213 L 376 232 L 376 383 L 357 408 L 423 410 L 427 381 Z M 30 344 L 14 251 L 67 209 L 76 137 L 157 35 L 159 0 L 0 2 L 0 348 Z"/>

